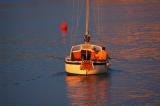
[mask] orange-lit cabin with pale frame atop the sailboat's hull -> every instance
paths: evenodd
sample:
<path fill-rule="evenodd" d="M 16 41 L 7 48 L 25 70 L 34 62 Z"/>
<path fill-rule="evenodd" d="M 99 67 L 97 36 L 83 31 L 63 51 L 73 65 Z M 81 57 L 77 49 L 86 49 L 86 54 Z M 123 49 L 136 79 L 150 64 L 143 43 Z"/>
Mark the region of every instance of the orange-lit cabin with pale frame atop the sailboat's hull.
<path fill-rule="evenodd" d="M 102 50 L 101 46 L 91 44 L 80 44 L 72 46 L 70 51 L 71 61 L 97 60 L 96 53 Z"/>

